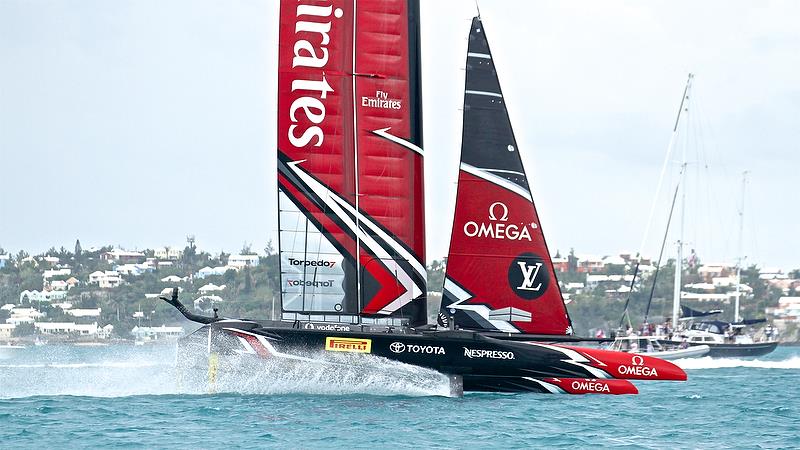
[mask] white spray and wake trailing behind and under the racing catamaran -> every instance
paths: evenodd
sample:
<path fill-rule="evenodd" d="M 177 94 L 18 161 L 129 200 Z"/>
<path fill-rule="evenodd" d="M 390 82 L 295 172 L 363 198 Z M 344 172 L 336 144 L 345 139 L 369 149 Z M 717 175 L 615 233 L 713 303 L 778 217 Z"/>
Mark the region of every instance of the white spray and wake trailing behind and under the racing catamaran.
<path fill-rule="evenodd" d="M 317 354 L 318 362 L 220 357 L 174 347 L 35 349 L 0 364 L 0 398 L 169 394 L 449 395 L 436 371 L 370 355 Z"/>

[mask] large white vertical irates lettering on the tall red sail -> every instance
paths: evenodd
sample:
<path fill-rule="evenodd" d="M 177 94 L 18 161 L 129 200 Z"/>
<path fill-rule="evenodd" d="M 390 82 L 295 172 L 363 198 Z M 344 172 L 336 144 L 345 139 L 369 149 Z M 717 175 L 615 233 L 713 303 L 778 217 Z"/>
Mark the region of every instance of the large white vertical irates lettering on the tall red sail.
<path fill-rule="evenodd" d="M 292 80 L 292 93 L 298 93 L 289 107 L 289 142 L 295 147 L 305 147 L 313 144 L 315 147 L 322 145 L 325 134 L 319 124 L 325 120 L 325 100 L 333 92 L 328 80 L 325 79 L 325 66 L 328 64 L 328 44 L 331 42 L 331 27 L 341 19 L 344 12 L 341 8 L 333 6 L 297 5 L 297 22 L 294 26 L 295 42 L 292 68 L 319 69 L 318 76 L 312 77 L 309 71 L 303 71 L 303 77 L 308 79 Z M 286 27 L 289 28 L 289 27 Z M 310 122 L 310 126 L 298 125 L 302 118 L 303 123 Z"/>

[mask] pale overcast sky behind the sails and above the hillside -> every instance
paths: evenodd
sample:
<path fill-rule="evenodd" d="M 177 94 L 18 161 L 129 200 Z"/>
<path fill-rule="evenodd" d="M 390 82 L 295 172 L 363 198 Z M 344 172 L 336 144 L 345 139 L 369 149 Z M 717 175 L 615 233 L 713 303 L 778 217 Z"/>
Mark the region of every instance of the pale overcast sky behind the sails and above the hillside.
<path fill-rule="evenodd" d="M 800 2 L 479 5 L 553 253 L 657 255 L 686 148 L 701 260 L 800 267 Z M 428 260 L 447 253 L 475 13 L 422 0 Z M 277 0 L 0 0 L 0 246 L 274 239 L 277 15 Z"/>

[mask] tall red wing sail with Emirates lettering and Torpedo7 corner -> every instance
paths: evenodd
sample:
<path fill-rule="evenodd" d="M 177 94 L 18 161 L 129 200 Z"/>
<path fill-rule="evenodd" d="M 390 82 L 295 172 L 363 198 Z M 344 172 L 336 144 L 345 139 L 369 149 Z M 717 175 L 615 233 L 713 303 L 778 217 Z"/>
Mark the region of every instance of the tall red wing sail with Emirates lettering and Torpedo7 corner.
<path fill-rule="evenodd" d="M 418 4 L 283 0 L 284 319 L 425 320 Z"/>

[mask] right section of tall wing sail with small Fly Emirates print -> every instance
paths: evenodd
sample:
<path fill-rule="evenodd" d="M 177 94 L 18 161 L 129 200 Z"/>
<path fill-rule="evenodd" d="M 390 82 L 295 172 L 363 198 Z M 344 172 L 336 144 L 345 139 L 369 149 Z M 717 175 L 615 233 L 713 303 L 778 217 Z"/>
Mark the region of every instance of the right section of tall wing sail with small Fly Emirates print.
<path fill-rule="evenodd" d="M 418 309 L 412 301 L 425 294 L 416 8 L 416 1 L 359 0 L 355 11 L 357 201 L 367 314 L 417 315 L 404 309 Z"/>

